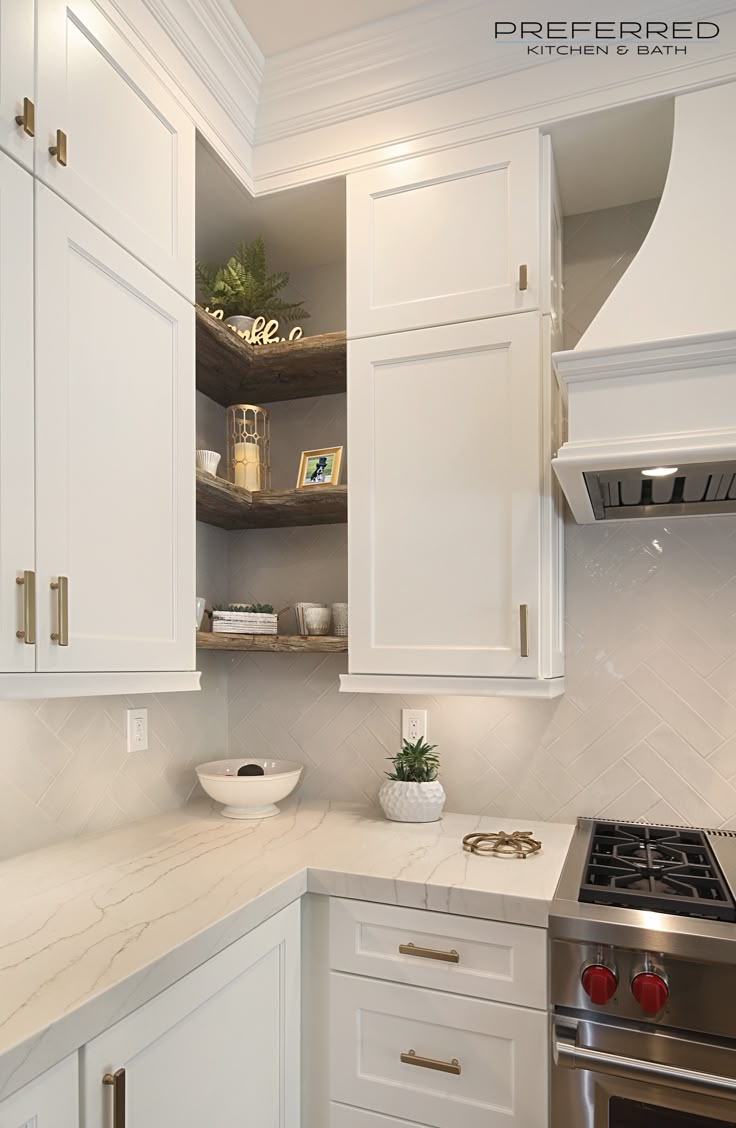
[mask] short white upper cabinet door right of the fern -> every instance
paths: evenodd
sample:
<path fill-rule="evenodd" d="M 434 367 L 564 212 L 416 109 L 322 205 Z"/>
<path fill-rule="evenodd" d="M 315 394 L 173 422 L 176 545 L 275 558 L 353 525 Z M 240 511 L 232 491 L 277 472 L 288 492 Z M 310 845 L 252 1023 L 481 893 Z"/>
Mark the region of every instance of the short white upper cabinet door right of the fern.
<path fill-rule="evenodd" d="M 538 263 L 536 130 L 348 177 L 350 337 L 536 309 Z"/>

